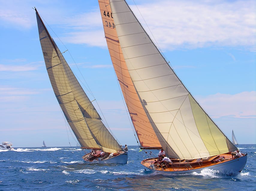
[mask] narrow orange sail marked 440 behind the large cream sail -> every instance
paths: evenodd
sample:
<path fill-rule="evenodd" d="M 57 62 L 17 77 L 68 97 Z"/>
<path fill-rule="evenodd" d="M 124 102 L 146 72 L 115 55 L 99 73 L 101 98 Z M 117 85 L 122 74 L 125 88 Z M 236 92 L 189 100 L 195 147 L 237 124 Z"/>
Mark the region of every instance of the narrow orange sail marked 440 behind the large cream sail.
<path fill-rule="evenodd" d="M 109 1 L 99 0 L 99 5 L 111 60 L 141 147 L 144 149 L 162 148 L 156 133 L 147 118 L 144 108 L 141 105 L 141 101 L 127 70 L 115 30 L 115 22 L 113 20 Z"/>

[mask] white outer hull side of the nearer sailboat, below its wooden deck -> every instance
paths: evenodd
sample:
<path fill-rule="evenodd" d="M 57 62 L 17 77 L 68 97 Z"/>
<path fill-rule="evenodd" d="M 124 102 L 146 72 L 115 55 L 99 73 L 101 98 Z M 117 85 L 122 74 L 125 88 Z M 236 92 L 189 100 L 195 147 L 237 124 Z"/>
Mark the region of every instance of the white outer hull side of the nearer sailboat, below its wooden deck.
<path fill-rule="evenodd" d="M 218 173 L 221 174 L 226 174 L 226 175 L 236 175 L 239 174 L 243 168 L 246 165 L 246 161 L 247 161 L 247 155 L 237 158 L 237 159 L 233 159 L 231 161 L 227 161 L 225 163 L 221 163 L 221 164 L 216 164 L 216 165 L 212 165 L 210 167 L 204 167 L 204 168 L 199 168 L 199 169 L 194 169 L 194 170 L 183 170 L 183 171 L 160 171 L 160 170 L 154 170 L 151 168 L 148 168 L 151 171 L 154 172 L 160 172 L 162 174 L 187 174 L 187 173 L 191 173 L 191 172 L 201 172 L 204 169 L 212 169 L 212 170 L 217 170 Z"/>

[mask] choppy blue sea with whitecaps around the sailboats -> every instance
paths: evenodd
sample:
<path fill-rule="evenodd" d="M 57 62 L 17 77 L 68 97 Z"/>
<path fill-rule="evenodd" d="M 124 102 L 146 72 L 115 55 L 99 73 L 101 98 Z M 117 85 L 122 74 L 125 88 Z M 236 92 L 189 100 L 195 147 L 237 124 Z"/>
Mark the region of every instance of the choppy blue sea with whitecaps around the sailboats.
<path fill-rule="evenodd" d="M 145 171 L 140 161 L 148 157 L 138 146 L 129 146 L 127 164 L 112 165 L 85 164 L 86 151 L 79 147 L 14 147 L 0 152 L 0 190 L 256 190 L 256 144 L 238 148 L 248 153 L 246 167 L 228 176 L 213 170 L 185 175 Z"/>

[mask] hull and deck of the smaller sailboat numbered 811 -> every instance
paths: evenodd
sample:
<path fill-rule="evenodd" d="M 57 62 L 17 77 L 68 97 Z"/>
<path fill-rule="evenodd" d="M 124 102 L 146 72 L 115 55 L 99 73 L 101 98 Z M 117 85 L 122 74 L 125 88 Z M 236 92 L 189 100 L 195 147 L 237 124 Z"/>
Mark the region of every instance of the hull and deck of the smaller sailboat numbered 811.
<path fill-rule="evenodd" d="M 127 164 L 128 160 L 128 152 L 121 153 L 117 156 L 113 156 L 111 158 L 106 158 L 103 160 L 99 160 L 99 158 L 95 158 L 94 160 L 87 160 L 87 155 L 90 153 L 84 155 L 82 158 L 85 160 L 86 163 L 92 164 L 92 163 L 100 163 L 100 164 L 112 164 L 112 163 L 117 163 L 117 164 Z"/>

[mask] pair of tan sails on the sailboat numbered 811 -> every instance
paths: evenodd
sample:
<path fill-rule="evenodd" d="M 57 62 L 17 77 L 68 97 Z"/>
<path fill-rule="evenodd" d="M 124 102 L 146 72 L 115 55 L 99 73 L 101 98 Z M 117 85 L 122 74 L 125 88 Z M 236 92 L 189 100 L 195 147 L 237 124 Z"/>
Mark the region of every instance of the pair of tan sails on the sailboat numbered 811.
<path fill-rule="evenodd" d="M 36 10 L 40 43 L 55 96 L 82 148 L 123 150 L 86 96 Z"/>

